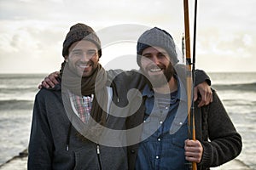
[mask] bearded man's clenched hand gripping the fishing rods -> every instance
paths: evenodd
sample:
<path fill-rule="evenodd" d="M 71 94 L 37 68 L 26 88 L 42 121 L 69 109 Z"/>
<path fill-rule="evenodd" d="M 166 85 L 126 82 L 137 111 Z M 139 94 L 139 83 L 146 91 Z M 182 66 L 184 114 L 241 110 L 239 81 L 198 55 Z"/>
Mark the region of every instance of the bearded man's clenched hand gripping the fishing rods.
<path fill-rule="evenodd" d="M 185 141 L 185 158 L 187 161 L 201 162 L 203 148 L 198 140 Z"/>

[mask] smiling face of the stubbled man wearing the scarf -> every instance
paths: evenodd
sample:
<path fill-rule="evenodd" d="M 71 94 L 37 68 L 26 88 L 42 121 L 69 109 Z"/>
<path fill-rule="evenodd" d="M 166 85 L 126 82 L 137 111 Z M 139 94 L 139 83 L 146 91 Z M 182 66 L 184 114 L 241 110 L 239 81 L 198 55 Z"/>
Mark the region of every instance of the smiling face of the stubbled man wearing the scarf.
<path fill-rule="evenodd" d="M 90 77 L 98 65 L 98 48 L 96 44 L 87 40 L 74 42 L 68 48 L 68 56 L 65 60 L 70 69 L 75 71 L 79 77 Z"/>

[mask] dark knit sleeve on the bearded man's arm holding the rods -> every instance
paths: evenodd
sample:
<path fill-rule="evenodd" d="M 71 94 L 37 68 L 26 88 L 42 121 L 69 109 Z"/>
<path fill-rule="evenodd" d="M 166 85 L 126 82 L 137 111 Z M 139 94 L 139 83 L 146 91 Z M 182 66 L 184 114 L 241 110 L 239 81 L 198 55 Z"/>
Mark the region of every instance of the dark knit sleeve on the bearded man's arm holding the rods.
<path fill-rule="evenodd" d="M 209 139 L 201 141 L 203 156 L 200 165 L 204 168 L 217 167 L 234 159 L 241 152 L 241 135 L 230 120 L 224 105 L 215 91 L 208 106 L 207 133 Z"/>

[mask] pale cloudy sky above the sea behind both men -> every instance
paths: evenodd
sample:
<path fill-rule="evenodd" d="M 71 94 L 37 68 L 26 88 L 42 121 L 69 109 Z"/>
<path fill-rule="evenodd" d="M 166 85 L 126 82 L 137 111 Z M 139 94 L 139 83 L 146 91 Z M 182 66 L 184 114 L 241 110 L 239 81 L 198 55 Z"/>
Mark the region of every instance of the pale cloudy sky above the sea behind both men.
<path fill-rule="evenodd" d="M 255 6 L 253 0 L 198 1 L 195 68 L 256 71 Z M 192 49 L 193 0 L 189 20 Z M 0 74 L 59 71 L 64 38 L 79 22 L 102 39 L 102 65 L 127 70 L 137 67 L 137 37 L 148 28 L 170 32 L 181 50 L 183 1 L 0 0 Z"/>

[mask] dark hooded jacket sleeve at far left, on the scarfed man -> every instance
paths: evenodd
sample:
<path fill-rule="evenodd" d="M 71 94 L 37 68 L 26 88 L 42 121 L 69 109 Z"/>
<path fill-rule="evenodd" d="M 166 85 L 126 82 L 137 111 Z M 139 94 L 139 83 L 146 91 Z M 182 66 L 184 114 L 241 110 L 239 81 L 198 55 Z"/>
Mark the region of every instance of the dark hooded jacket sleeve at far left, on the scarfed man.
<path fill-rule="evenodd" d="M 28 170 L 51 169 L 52 150 L 54 147 L 52 141 L 44 96 L 42 95 L 42 90 L 40 90 L 33 107 L 32 128 L 28 146 Z"/>

